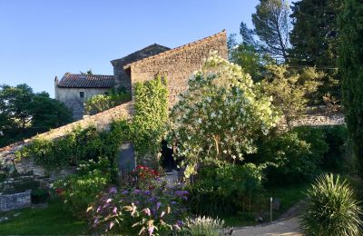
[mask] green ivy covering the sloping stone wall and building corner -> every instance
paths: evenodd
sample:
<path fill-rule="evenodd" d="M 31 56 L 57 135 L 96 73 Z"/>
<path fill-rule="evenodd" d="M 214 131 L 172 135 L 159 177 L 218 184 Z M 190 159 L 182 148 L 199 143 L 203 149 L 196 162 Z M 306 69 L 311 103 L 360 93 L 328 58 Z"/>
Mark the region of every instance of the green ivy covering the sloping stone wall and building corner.
<path fill-rule="evenodd" d="M 56 140 L 35 139 L 16 152 L 18 159 L 34 157 L 36 164 L 47 170 L 98 161 L 107 157 L 116 166 L 115 156 L 122 143 L 132 142 L 139 162 L 145 157 L 155 160 L 160 150 L 163 125 L 168 119 L 168 90 L 166 80 L 157 77 L 134 87 L 135 114 L 132 122 L 111 123 L 109 131 L 97 131 L 94 126 L 76 128 Z"/>

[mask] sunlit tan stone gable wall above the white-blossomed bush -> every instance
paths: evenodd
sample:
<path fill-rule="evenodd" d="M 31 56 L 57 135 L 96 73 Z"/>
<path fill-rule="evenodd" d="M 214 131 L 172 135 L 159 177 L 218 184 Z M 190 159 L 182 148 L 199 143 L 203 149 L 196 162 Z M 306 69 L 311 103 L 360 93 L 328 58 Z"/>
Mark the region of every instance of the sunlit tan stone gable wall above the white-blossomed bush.
<path fill-rule="evenodd" d="M 190 76 L 201 68 L 204 59 L 213 51 L 222 58 L 228 58 L 225 31 L 126 65 L 126 68 L 131 68 L 132 84 L 151 80 L 157 75 L 166 77 L 172 105 L 177 95 L 187 89 Z"/>

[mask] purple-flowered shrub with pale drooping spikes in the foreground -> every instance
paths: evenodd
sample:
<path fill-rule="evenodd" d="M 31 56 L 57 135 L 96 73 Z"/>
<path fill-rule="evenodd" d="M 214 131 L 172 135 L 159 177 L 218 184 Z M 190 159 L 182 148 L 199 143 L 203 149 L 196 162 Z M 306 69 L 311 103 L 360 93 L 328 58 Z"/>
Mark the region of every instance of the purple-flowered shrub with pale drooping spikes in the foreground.
<path fill-rule="evenodd" d="M 168 187 L 161 183 L 152 190 L 136 188 L 118 191 L 115 187 L 103 193 L 89 207 L 94 228 L 114 233 L 165 235 L 179 230 L 188 192 L 180 185 Z"/>

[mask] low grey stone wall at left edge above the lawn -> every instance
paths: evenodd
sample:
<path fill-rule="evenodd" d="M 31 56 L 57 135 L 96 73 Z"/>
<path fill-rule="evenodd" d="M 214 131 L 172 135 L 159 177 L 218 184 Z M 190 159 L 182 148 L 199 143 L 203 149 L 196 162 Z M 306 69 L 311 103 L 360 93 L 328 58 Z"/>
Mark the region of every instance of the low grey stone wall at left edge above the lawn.
<path fill-rule="evenodd" d="M 0 195 L 0 211 L 12 211 L 30 207 L 32 204 L 30 193 L 31 190 L 27 190 L 15 194 Z"/>

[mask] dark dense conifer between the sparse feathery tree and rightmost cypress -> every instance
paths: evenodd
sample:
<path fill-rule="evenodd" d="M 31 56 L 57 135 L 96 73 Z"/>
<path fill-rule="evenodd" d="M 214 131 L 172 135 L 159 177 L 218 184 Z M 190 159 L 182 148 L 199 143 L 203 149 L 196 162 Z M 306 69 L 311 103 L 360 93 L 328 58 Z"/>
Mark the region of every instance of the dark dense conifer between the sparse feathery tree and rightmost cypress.
<path fill-rule="evenodd" d="M 342 0 L 301 0 L 292 6 L 289 64 L 316 66 L 326 74 L 315 103 L 322 103 L 326 93 L 341 98 L 337 69 L 341 4 Z"/>

